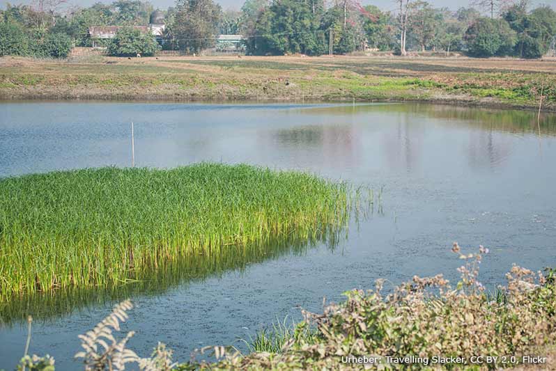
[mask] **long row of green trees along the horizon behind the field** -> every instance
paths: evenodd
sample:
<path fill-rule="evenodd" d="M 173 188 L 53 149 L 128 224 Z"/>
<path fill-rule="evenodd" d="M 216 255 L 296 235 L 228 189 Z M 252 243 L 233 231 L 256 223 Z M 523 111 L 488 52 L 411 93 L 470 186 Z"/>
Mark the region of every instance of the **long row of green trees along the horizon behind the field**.
<path fill-rule="evenodd" d="M 392 10 L 358 0 L 246 0 L 240 11 L 213 0 L 177 0 L 163 10 L 162 45 L 131 26 L 146 25 L 153 5 L 141 0 L 65 8 L 65 0 L 36 0 L 0 10 L 0 55 L 64 57 L 91 46 L 91 26 L 123 26 L 107 42 L 111 54 L 157 49 L 199 53 L 216 35 L 241 34 L 247 54 L 348 54 L 366 49 L 463 52 L 474 57 L 539 58 L 554 49 L 556 12 L 527 0 L 472 0 L 475 8 L 435 8 L 422 0 L 394 0 Z M 129 26 L 129 27 L 126 27 Z"/>

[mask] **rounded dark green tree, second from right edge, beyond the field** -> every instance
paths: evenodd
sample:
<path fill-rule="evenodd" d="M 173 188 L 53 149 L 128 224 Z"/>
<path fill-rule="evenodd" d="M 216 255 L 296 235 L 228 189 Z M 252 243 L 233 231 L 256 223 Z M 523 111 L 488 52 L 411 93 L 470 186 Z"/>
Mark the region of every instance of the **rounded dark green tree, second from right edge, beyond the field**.
<path fill-rule="evenodd" d="M 516 32 L 504 19 L 479 18 L 465 32 L 468 54 L 476 57 L 511 54 Z"/>

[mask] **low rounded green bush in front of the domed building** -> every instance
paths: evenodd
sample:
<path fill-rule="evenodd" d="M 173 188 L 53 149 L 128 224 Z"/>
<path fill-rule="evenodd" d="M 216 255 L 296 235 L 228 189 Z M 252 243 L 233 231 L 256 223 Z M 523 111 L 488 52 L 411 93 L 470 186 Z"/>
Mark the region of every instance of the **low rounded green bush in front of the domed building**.
<path fill-rule="evenodd" d="M 159 45 L 152 33 L 125 27 L 119 29 L 107 47 L 111 56 L 153 56 Z"/>

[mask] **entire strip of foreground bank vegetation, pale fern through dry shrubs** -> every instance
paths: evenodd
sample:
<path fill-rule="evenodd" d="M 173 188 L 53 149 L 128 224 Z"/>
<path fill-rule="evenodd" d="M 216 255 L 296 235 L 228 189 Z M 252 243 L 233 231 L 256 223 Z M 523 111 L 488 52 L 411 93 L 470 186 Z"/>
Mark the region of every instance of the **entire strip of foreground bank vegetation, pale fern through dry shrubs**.
<path fill-rule="evenodd" d="M 304 312 L 295 329 L 275 326 L 259 333 L 243 355 L 233 347 L 206 347 L 216 363 L 191 360 L 179 365 L 171 349 L 158 343 L 150 358 L 126 348 L 133 332 L 119 338 L 120 322 L 128 318 L 124 301 L 93 331 L 79 336 L 86 370 L 123 370 L 135 363 L 140 370 L 360 370 L 355 361 L 366 356 L 376 363 L 369 369 L 433 370 L 496 369 L 552 365 L 556 355 L 556 275 L 513 266 L 507 286 L 488 294 L 478 281 L 479 265 L 488 248 L 465 254 L 452 248 L 465 264 L 461 281 L 451 287 L 442 275 L 420 278 L 384 294 L 376 288 L 346 292 L 346 301 L 332 304 L 317 315 Z M 405 361 L 403 357 L 411 356 Z M 472 358 L 482 356 L 483 358 Z M 487 356 L 497 358 L 487 358 Z M 401 360 L 401 361 L 396 361 Z M 22 364 L 31 370 L 54 370 L 54 359 L 29 356 Z M 49 367 L 49 368 L 48 368 Z"/>

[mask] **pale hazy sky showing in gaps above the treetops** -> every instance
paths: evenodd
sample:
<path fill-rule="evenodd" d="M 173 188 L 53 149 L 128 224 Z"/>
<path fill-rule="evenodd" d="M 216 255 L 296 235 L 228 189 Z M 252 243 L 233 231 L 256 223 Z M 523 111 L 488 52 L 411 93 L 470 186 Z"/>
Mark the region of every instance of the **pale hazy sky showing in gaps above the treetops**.
<path fill-rule="evenodd" d="M 29 1 L 31 0 L 12 0 L 12 1 L 0 0 L 0 6 L 2 8 L 5 8 L 6 3 L 18 4 L 18 3 L 29 3 Z M 73 5 L 90 6 L 91 4 L 99 0 L 69 0 L 69 1 Z M 103 3 L 111 3 L 111 1 L 109 0 L 100 0 L 100 1 Z M 222 5 L 222 8 L 224 9 L 227 8 L 239 9 L 241 8 L 245 0 L 216 0 L 216 1 L 217 3 Z M 451 8 L 454 10 L 460 8 L 461 6 L 469 6 L 469 0 L 428 0 L 428 2 L 432 3 L 433 6 L 436 7 L 445 6 L 447 8 Z M 175 0 L 150 0 L 150 3 L 153 3 L 155 7 L 168 8 L 169 6 L 173 5 L 173 3 L 175 3 Z M 534 5 L 539 5 L 541 3 L 548 4 L 550 6 L 553 6 L 553 8 L 556 8 L 556 0 L 533 0 L 532 3 Z M 394 10 L 394 8 L 396 8 L 394 4 L 394 0 L 362 0 L 362 4 L 363 5 L 373 4 L 383 10 Z"/>

